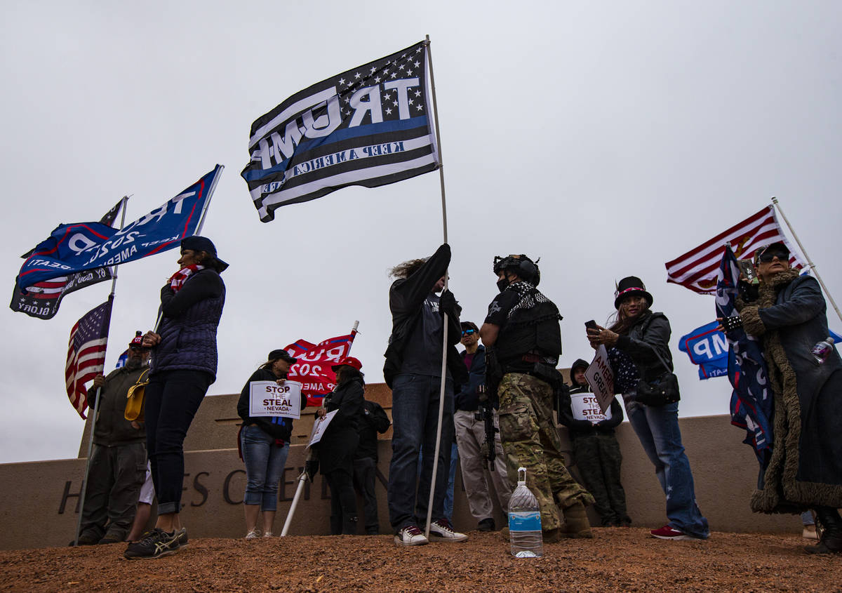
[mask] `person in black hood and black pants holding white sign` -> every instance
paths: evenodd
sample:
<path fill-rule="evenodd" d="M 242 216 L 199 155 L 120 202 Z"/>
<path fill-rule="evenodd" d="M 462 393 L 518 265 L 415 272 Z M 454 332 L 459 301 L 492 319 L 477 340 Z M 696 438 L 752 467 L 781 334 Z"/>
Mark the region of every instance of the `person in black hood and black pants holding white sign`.
<path fill-rule="evenodd" d="M 584 371 L 588 363 L 581 358 L 570 367 L 573 388 L 562 389 L 558 398 L 558 421 L 567 426 L 573 457 L 584 485 L 594 495 L 594 509 L 602 526 L 629 526 L 626 515 L 626 491 L 620 483 L 623 456 L 614 429 L 623 421 L 623 409 L 617 398 L 611 400 L 605 414 L 600 409 Z"/>

